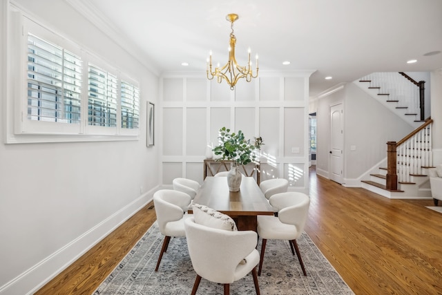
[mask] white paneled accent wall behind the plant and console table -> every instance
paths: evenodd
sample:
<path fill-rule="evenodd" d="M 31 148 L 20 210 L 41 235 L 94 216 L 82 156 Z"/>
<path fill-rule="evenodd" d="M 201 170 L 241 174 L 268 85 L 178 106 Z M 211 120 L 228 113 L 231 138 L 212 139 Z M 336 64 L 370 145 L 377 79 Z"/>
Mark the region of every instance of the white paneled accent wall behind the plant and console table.
<path fill-rule="evenodd" d="M 261 180 L 287 178 L 291 189 L 308 193 L 308 85 L 311 73 L 240 80 L 231 91 L 205 77 L 164 76 L 156 130 L 162 150 L 162 184 L 184 177 L 203 182 L 207 145 L 218 130 L 261 136 Z"/>

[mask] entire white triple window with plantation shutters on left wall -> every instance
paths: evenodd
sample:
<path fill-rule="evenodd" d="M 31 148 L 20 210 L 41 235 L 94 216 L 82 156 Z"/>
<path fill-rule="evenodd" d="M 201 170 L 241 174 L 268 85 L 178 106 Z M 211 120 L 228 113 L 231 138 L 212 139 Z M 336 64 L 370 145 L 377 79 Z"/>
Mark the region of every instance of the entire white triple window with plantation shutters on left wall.
<path fill-rule="evenodd" d="M 28 16 L 12 18 L 8 143 L 138 140 L 135 79 Z"/>

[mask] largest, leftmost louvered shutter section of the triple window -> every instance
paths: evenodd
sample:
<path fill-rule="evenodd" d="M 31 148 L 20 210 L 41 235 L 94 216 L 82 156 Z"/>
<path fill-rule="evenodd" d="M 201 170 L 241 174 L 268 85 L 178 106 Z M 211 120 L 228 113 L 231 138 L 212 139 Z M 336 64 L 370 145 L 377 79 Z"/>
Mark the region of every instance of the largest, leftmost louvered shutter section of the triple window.
<path fill-rule="evenodd" d="M 79 124 L 81 59 L 28 34 L 28 119 Z"/>

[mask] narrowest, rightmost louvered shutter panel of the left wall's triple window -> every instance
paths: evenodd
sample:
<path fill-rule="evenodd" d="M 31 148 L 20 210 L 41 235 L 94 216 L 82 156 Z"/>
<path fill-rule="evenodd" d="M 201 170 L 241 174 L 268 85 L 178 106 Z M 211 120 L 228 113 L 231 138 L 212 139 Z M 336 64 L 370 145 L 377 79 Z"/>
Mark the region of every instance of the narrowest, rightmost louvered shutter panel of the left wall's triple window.
<path fill-rule="evenodd" d="M 121 83 L 122 128 L 137 129 L 140 121 L 140 91 L 128 82 Z"/>

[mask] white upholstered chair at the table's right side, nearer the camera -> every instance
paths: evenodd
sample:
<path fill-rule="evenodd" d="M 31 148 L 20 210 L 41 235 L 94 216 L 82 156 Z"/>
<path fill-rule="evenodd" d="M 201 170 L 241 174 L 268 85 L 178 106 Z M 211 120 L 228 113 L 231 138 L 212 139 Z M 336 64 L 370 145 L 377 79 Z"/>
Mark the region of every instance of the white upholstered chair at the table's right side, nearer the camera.
<path fill-rule="evenodd" d="M 258 276 L 261 275 L 265 246 L 269 239 L 288 240 L 291 253 L 295 255 L 294 249 L 296 250 L 302 273 L 307 276 L 296 239 L 304 231 L 310 206 L 309 196 L 298 192 L 277 193 L 271 196 L 269 201 L 273 207 L 280 210 L 278 216 L 258 216 L 258 236 L 262 238 Z"/>

